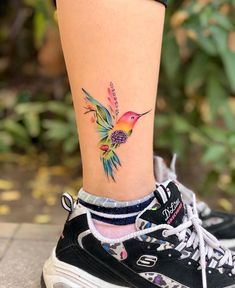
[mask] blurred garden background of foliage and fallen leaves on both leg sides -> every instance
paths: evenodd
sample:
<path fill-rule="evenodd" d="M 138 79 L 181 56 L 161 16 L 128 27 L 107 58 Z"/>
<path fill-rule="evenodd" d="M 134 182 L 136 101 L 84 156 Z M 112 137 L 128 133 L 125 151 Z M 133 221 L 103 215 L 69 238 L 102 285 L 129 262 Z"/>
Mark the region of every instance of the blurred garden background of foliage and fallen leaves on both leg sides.
<path fill-rule="evenodd" d="M 235 0 L 167 10 L 155 151 L 212 207 L 235 207 Z M 53 2 L 0 1 L 0 221 L 62 223 L 81 163 Z"/>

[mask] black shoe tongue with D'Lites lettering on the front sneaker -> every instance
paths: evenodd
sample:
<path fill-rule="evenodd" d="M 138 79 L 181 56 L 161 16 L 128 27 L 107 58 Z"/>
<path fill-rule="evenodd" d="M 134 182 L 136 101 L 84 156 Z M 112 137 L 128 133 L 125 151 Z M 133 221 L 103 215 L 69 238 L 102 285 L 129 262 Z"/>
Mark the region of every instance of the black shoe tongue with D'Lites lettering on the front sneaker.
<path fill-rule="evenodd" d="M 154 192 L 155 199 L 136 219 L 139 230 L 152 224 L 168 224 L 176 227 L 183 222 L 184 204 L 180 191 L 172 181 L 163 182 Z"/>

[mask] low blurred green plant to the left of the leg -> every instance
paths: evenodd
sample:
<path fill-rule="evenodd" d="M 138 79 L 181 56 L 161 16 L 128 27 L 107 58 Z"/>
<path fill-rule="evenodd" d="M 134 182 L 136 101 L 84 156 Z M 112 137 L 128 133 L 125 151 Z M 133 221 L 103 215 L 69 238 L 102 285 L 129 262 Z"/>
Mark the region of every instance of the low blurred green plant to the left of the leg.
<path fill-rule="evenodd" d="M 5 93 L 3 92 L 3 96 Z M 19 149 L 35 152 L 37 149 L 63 149 L 72 153 L 78 149 L 78 140 L 71 95 L 63 101 L 22 101 L 28 91 L 11 95 L 14 101 L 0 102 L 5 115 L 0 122 L 0 151 Z M 22 102 L 21 102 L 22 101 Z M 34 145 L 33 145 L 34 144 Z M 35 145 L 36 144 L 36 145 Z"/>

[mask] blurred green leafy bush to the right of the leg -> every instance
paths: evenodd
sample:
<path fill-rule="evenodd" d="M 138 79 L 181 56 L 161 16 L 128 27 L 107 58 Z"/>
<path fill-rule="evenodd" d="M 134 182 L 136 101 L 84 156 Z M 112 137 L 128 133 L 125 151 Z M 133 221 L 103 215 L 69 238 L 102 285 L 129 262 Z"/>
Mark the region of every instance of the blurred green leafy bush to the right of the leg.
<path fill-rule="evenodd" d="M 213 167 L 203 188 L 211 191 L 217 185 L 229 193 L 235 193 L 234 4 L 234 0 L 172 3 L 156 118 L 158 147 L 183 157 L 197 145 L 202 163 Z"/>

